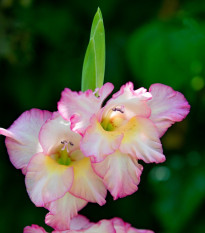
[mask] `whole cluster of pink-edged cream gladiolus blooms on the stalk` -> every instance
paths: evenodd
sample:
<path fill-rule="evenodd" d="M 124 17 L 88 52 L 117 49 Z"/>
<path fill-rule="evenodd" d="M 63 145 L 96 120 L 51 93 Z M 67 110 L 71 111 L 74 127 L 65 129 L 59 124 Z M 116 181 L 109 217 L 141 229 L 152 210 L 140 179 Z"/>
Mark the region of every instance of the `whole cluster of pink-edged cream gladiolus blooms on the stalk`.
<path fill-rule="evenodd" d="M 94 93 L 66 88 L 57 112 L 31 109 L 9 129 L 0 128 L 11 162 L 25 174 L 30 199 L 49 210 L 45 222 L 55 232 L 78 232 L 71 219 L 88 202 L 104 205 L 107 190 L 115 200 L 137 191 L 143 170 L 138 160 L 164 162 L 160 137 L 189 113 L 184 96 L 166 85 L 134 90 L 129 82 L 105 104 L 113 89 L 111 83 Z M 102 220 L 91 228 L 118 228 L 120 221 Z"/>

